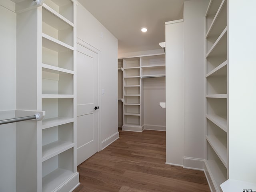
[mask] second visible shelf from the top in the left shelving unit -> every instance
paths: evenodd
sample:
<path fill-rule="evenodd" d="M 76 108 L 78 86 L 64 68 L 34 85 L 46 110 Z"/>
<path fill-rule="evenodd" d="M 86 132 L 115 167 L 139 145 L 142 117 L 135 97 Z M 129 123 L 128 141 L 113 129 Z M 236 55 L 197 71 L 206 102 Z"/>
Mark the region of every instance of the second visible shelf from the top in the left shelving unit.
<path fill-rule="evenodd" d="M 42 44 L 46 48 L 49 48 L 54 51 L 60 51 L 60 52 L 66 51 L 68 49 L 74 51 L 74 47 L 72 47 L 60 40 L 57 40 L 45 33 L 42 33 L 42 38 L 43 38 Z"/>

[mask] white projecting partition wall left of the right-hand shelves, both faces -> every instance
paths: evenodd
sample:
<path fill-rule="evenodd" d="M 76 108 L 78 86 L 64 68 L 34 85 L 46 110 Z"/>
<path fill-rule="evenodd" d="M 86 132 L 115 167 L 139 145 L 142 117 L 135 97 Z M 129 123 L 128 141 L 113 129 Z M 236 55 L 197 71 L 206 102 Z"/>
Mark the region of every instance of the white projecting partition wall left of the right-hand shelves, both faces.
<path fill-rule="evenodd" d="M 195 169 L 204 168 L 205 158 L 207 6 L 205 0 L 186 1 L 183 22 L 166 22 L 166 162 Z"/>

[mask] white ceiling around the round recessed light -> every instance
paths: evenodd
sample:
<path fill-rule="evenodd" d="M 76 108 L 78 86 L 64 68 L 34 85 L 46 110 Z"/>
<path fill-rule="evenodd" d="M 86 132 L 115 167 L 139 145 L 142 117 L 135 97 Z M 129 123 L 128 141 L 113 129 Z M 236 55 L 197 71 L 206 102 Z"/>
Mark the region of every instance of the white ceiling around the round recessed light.
<path fill-rule="evenodd" d="M 185 0 L 78 0 L 117 39 L 118 54 L 160 49 L 165 22 L 182 19 Z M 140 28 L 148 27 L 142 33 Z"/>

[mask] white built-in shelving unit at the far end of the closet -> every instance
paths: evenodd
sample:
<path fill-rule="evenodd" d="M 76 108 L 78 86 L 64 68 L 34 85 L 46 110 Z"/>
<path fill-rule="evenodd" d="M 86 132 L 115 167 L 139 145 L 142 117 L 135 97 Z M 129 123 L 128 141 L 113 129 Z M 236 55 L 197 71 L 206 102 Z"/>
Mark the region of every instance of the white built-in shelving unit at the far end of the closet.
<path fill-rule="evenodd" d="M 118 60 L 118 68 L 122 69 L 122 74 L 119 76 L 123 76 L 122 130 L 142 132 L 144 130 L 143 78 L 165 76 L 165 55 L 122 58 Z"/>

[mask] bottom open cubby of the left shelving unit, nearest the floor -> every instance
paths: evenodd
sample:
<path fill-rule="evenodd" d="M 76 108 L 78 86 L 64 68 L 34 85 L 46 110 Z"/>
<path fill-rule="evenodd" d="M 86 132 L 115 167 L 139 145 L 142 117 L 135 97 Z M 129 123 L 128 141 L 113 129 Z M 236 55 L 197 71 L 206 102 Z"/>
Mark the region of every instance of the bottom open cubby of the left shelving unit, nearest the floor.
<path fill-rule="evenodd" d="M 42 192 L 54 191 L 61 183 L 70 179 L 74 172 L 73 156 L 74 147 L 42 162 Z"/>

